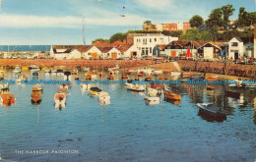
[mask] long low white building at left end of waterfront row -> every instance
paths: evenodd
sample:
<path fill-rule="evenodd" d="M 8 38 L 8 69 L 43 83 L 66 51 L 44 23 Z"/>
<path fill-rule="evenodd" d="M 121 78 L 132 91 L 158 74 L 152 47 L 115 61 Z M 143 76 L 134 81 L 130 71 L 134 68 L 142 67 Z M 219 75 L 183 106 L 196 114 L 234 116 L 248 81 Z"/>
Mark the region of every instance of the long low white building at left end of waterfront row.
<path fill-rule="evenodd" d="M 81 59 L 79 45 L 52 45 L 50 56 L 54 59 Z"/>

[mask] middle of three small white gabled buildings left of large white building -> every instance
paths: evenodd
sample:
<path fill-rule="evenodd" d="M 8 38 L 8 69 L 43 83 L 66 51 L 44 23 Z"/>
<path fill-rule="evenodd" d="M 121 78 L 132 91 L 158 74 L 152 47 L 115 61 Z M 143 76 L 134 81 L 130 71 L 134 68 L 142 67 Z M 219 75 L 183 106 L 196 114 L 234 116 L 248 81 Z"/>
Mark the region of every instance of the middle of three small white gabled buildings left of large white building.
<path fill-rule="evenodd" d="M 115 47 L 98 47 L 101 51 L 102 59 L 118 59 L 121 57 L 121 52 Z"/>

